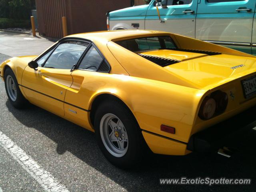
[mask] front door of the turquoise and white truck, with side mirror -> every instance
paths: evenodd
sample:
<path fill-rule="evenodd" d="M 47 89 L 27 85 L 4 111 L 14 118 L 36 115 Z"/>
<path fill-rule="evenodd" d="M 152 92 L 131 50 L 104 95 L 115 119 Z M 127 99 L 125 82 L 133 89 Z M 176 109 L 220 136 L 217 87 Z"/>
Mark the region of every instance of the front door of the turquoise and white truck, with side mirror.
<path fill-rule="evenodd" d="M 160 2 L 160 1 L 158 1 Z M 145 20 L 145 29 L 161 30 L 195 38 L 197 0 L 167 0 L 167 7 L 151 3 Z"/>

